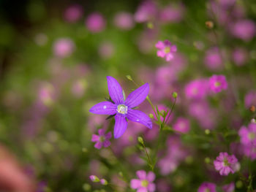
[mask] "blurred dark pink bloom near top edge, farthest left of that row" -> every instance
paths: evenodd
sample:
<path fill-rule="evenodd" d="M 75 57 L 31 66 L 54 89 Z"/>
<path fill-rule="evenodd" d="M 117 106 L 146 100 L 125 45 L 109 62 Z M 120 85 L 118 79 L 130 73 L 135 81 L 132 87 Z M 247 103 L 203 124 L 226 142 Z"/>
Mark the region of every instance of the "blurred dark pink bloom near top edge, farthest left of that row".
<path fill-rule="evenodd" d="M 79 4 L 73 4 L 64 12 L 64 19 L 67 20 L 69 23 L 75 23 L 79 20 L 83 15 L 83 7 Z"/>

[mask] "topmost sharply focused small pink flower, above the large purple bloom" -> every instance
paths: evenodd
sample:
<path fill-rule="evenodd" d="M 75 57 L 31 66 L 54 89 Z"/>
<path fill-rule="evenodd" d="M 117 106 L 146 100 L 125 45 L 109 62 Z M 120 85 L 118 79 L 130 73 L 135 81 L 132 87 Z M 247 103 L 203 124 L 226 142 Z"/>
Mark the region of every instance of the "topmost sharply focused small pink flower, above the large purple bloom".
<path fill-rule="evenodd" d="M 164 42 L 157 42 L 156 47 L 158 49 L 157 56 L 160 58 L 165 58 L 166 61 L 172 60 L 173 53 L 176 53 L 177 51 L 176 45 L 172 45 L 168 40 L 165 40 Z"/>

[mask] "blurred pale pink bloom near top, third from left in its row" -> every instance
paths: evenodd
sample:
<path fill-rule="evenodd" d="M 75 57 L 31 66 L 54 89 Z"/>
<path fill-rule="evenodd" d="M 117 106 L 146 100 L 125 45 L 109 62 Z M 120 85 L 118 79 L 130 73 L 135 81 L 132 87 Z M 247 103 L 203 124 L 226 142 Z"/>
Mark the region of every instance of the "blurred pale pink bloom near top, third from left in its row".
<path fill-rule="evenodd" d="M 129 30 L 135 26 L 132 14 L 129 12 L 118 12 L 113 22 L 116 27 L 122 30 Z"/>

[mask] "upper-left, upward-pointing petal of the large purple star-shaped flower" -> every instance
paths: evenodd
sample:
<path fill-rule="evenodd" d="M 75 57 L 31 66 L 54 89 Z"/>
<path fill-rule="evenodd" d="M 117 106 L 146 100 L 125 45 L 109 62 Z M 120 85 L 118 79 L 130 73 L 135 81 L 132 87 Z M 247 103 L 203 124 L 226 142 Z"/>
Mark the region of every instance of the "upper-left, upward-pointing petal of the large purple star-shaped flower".
<path fill-rule="evenodd" d="M 108 92 L 110 98 L 116 103 L 121 104 L 124 102 L 123 90 L 117 80 L 111 76 L 107 76 Z"/>

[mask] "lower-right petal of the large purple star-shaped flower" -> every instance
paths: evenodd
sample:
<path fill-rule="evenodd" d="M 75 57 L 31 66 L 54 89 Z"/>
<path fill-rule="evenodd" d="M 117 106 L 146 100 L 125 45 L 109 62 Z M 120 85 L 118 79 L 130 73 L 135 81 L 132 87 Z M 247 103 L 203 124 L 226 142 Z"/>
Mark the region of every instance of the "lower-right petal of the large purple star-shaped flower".
<path fill-rule="evenodd" d="M 146 115 L 144 112 L 141 112 L 139 110 L 129 109 L 127 113 L 127 118 L 134 122 L 141 123 L 148 128 L 152 128 L 151 119 L 148 117 L 148 115 Z"/>

